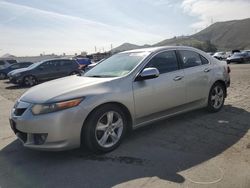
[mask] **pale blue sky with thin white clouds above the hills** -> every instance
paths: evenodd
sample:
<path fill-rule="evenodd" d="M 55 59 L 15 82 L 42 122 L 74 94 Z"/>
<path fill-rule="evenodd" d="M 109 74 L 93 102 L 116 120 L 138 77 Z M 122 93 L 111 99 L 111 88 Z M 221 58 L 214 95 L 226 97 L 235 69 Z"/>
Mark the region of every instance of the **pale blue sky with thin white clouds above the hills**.
<path fill-rule="evenodd" d="M 0 56 L 154 44 L 249 10 L 250 0 L 0 0 Z"/>

